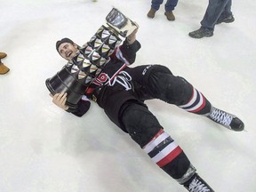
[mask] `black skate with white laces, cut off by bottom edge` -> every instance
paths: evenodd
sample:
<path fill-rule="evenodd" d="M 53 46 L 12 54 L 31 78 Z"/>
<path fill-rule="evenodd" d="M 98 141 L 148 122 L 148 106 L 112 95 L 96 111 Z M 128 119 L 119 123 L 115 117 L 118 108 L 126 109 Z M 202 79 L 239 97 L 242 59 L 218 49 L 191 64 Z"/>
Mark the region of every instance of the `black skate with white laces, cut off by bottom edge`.
<path fill-rule="evenodd" d="M 184 183 L 189 192 L 214 192 L 213 189 L 195 173 L 190 180 Z"/>

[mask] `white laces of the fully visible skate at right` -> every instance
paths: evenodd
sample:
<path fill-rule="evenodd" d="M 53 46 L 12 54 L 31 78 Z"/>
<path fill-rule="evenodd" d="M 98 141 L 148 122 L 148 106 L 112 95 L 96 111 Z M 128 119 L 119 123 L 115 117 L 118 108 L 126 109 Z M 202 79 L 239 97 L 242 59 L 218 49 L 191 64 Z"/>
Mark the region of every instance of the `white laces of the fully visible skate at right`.
<path fill-rule="evenodd" d="M 210 117 L 213 121 L 224 124 L 226 126 L 229 126 L 233 119 L 233 116 L 224 111 L 221 111 L 218 108 L 212 108 L 212 113 L 210 114 Z"/>

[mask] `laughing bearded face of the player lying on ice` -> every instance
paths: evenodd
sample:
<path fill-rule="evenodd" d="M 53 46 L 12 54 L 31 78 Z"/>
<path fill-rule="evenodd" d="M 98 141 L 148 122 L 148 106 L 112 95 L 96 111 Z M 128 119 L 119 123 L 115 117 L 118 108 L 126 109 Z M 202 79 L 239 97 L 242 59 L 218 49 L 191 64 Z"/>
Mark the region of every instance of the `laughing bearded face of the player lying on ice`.
<path fill-rule="evenodd" d="M 60 44 L 58 51 L 65 60 L 72 60 L 76 56 L 76 52 L 78 52 L 78 47 L 76 44 L 63 43 Z"/>

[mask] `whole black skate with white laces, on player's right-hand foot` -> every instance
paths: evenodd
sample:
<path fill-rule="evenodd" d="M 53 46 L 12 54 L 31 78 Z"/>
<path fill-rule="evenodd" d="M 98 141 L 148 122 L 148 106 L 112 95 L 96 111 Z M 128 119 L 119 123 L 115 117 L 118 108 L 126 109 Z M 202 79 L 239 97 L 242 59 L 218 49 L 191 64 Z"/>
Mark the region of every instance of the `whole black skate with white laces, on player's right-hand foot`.
<path fill-rule="evenodd" d="M 230 130 L 236 132 L 241 132 L 244 130 L 244 123 L 237 116 L 228 114 L 227 112 L 218 108 L 212 107 L 211 113 L 207 117 L 212 119 L 212 121 L 216 122 L 217 124 L 221 124 Z"/>

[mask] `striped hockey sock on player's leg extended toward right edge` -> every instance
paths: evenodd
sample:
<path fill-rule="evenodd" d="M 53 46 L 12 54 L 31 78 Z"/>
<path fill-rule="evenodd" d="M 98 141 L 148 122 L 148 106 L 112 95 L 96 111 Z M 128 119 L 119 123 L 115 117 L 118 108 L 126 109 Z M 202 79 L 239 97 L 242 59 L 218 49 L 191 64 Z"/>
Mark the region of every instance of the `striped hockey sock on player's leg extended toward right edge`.
<path fill-rule="evenodd" d="M 186 104 L 180 105 L 179 108 L 198 115 L 208 115 L 211 112 L 211 103 L 195 87 L 192 86 L 192 89 L 190 100 Z"/>

